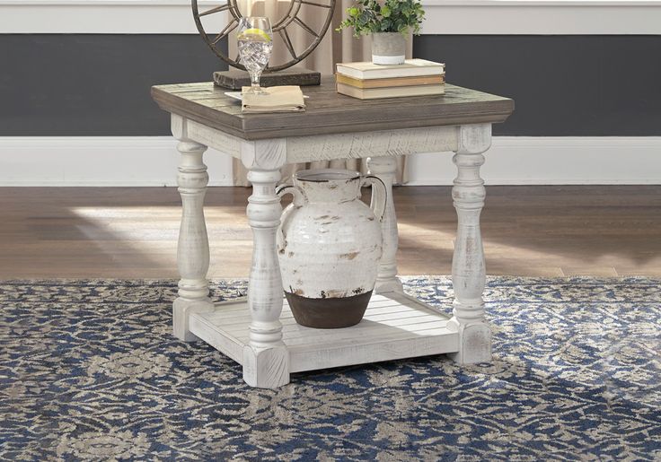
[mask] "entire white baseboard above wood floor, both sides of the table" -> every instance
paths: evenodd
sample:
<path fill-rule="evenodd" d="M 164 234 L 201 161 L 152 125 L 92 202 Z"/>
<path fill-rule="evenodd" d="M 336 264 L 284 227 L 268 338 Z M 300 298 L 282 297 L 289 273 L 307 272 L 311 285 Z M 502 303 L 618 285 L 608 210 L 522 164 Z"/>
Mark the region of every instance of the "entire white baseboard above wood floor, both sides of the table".
<path fill-rule="evenodd" d="M 661 137 L 499 136 L 489 185 L 661 184 Z M 231 186 L 232 161 L 205 155 L 210 186 Z M 176 186 L 169 136 L 0 137 L 0 186 Z M 452 153 L 410 156 L 410 185 L 451 185 Z"/>

